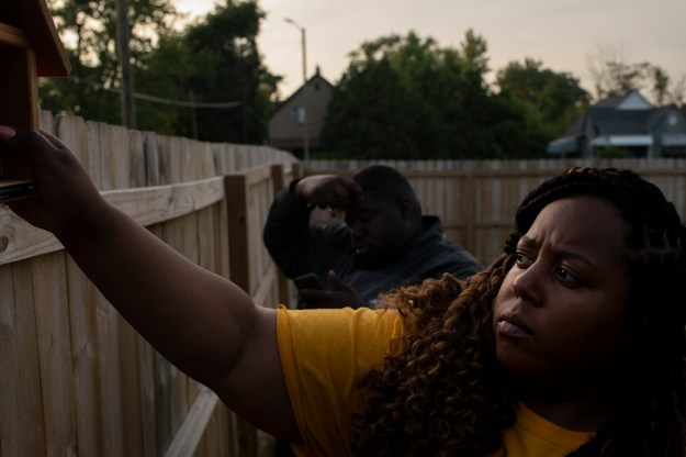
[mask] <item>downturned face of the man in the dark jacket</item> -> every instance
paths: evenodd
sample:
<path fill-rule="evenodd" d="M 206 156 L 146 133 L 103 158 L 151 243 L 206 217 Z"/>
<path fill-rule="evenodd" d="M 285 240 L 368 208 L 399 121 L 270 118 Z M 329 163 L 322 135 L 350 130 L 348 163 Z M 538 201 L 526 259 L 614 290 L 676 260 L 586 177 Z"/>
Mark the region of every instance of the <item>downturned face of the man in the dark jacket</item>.
<path fill-rule="evenodd" d="M 362 268 L 381 268 L 403 253 L 409 241 L 402 204 L 366 196 L 346 210 L 356 260 Z"/>

